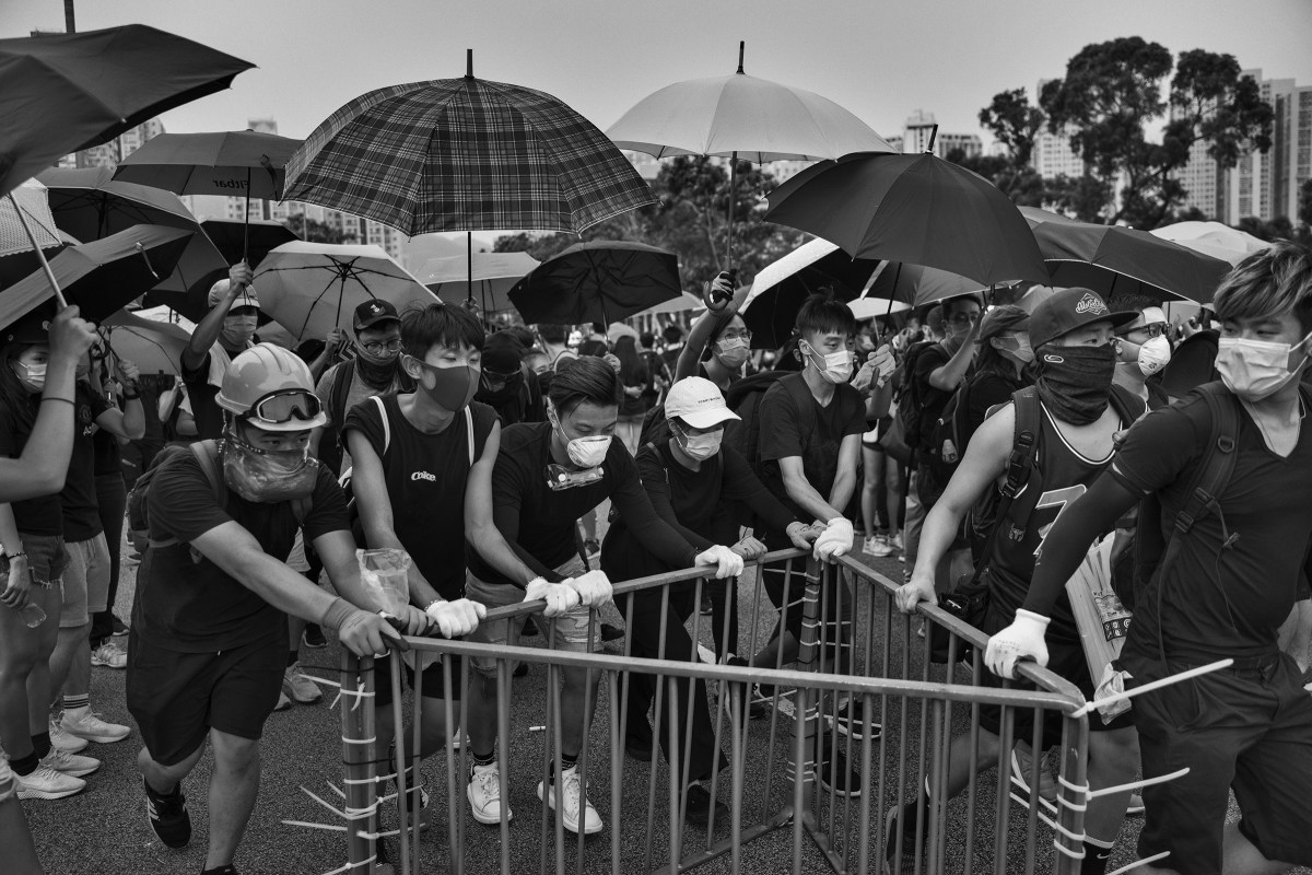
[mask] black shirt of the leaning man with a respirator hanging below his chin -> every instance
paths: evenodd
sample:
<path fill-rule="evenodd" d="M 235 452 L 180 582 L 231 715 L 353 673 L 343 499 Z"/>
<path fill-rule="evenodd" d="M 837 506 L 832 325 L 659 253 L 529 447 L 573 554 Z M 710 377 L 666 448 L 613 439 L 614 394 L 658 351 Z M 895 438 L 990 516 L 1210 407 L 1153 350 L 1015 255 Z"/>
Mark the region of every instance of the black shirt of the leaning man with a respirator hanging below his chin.
<path fill-rule="evenodd" d="M 558 565 L 577 555 L 575 526 L 579 518 L 610 499 L 635 537 L 661 561 L 676 568 L 693 564 L 697 550 L 656 516 L 638 479 L 634 458 L 619 438 L 601 463 L 596 483 L 555 492 L 547 487 L 551 458 L 551 424 L 521 422 L 501 433 L 501 450 L 492 471 L 492 513 L 496 527 L 520 559 L 546 580 L 560 580 Z M 467 551 L 470 572 L 492 584 L 520 585 Z"/>

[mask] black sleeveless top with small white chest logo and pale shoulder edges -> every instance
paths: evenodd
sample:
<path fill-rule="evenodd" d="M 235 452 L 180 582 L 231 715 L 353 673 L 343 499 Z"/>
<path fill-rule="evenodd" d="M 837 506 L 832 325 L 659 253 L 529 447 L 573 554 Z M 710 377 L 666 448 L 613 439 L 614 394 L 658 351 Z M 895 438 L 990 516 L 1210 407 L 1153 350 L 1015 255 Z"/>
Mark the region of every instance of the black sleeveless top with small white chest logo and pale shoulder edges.
<path fill-rule="evenodd" d="M 383 451 L 383 420 L 378 401 L 352 408 L 342 434 L 359 432 L 383 463 L 392 530 L 416 568 L 447 601 L 464 594 L 464 485 L 470 476 L 468 428 L 458 413 L 437 434 L 415 428 L 400 411 L 396 395 L 380 399 L 387 409 L 391 441 Z M 474 420 L 474 458 L 483 447 L 496 413 L 485 404 L 470 405 Z M 370 544 L 377 547 L 379 544 Z"/>

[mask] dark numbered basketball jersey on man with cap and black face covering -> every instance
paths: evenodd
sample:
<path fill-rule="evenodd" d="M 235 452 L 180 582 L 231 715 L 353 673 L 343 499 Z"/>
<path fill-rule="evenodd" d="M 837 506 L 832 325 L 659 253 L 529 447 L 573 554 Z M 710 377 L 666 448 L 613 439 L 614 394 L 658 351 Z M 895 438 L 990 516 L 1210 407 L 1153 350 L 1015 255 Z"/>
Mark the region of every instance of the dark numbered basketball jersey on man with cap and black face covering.
<path fill-rule="evenodd" d="M 1127 424 L 1122 420 L 1119 429 Z M 1057 517 L 1082 496 L 1111 464 L 1111 453 L 1090 459 L 1072 447 L 1057 429 L 1048 408 L 1039 403 L 1039 432 L 1035 437 L 1034 467 L 1030 479 L 998 526 L 988 554 L 989 614 L 1010 623 L 1025 603 L 1034 576 L 1034 560 Z M 1015 521 L 1023 521 L 1023 527 Z M 1064 628 L 1077 636 L 1075 617 L 1065 592 L 1052 611 L 1050 628 Z"/>

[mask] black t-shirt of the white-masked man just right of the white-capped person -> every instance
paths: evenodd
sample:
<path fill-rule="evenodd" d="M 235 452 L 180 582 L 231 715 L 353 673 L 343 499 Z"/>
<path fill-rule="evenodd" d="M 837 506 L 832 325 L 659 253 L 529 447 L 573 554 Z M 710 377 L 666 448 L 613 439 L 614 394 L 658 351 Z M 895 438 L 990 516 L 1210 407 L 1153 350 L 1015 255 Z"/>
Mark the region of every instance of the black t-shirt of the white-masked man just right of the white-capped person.
<path fill-rule="evenodd" d="M 760 458 L 764 463 L 762 480 L 799 519 L 811 514 L 789 497 L 779 471 L 779 459 L 800 457 L 807 483 L 828 501 L 833 481 L 838 476 L 838 449 L 842 439 L 866 430 L 866 403 L 861 394 L 846 383 L 833 388 L 829 404 L 821 407 L 803 375 L 789 374 L 766 390 L 757 412 L 761 420 L 758 439 Z M 798 400 L 803 395 L 811 401 L 813 412 L 810 416 L 803 416 L 798 408 Z"/>

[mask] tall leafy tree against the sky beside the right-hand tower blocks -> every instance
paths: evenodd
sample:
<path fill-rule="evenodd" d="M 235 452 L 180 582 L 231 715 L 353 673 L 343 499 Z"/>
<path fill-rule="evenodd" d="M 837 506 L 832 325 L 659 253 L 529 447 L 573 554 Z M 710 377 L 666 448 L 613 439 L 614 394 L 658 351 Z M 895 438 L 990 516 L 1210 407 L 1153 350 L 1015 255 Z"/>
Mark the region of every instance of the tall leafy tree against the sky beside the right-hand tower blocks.
<path fill-rule="evenodd" d="M 1071 132 L 1092 176 L 1123 178 L 1119 202 L 1105 201 L 1111 223 L 1153 228 L 1170 220 L 1187 194 L 1174 173 L 1195 143 L 1206 143 L 1207 155 L 1227 168 L 1246 150 L 1271 146 L 1274 113 L 1233 55 L 1181 52 L 1164 97 L 1172 68 L 1164 46 L 1123 37 L 1085 46 L 1067 63 L 1065 77 L 1047 83 L 1039 97 L 1048 130 Z M 1161 139 L 1149 139 L 1162 122 Z"/>

